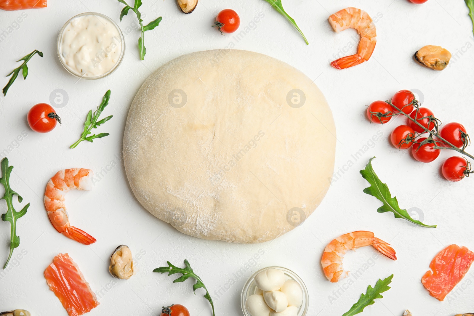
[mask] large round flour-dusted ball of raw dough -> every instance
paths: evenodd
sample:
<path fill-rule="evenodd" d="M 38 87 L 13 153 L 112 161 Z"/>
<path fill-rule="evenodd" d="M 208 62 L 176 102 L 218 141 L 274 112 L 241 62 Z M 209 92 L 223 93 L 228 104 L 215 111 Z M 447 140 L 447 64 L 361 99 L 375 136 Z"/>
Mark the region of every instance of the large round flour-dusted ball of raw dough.
<path fill-rule="evenodd" d="M 310 216 L 334 169 L 326 99 L 302 72 L 241 50 L 182 55 L 145 81 L 124 133 L 138 201 L 182 233 L 272 240 Z"/>

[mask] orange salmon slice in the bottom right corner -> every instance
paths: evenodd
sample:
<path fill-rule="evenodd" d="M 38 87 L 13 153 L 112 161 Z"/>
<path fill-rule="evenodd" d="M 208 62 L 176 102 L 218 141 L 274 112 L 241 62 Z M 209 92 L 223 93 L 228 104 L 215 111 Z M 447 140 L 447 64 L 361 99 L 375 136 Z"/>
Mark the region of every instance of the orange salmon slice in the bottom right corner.
<path fill-rule="evenodd" d="M 432 271 L 427 271 L 421 283 L 432 297 L 442 301 L 447 294 L 461 281 L 474 261 L 474 253 L 457 244 L 441 250 L 429 264 Z"/>

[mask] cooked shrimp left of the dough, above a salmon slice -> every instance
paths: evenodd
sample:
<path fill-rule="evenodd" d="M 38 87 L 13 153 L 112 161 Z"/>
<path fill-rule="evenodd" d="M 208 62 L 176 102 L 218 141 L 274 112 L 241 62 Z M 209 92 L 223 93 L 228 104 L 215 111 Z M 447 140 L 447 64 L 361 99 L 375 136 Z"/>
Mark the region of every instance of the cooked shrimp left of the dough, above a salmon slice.
<path fill-rule="evenodd" d="M 89 169 L 60 170 L 46 185 L 45 207 L 51 224 L 58 232 L 81 244 L 92 244 L 96 239 L 81 229 L 69 225 L 64 194 L 74 189 L 91 190 L 92 176 L 93 172 Z"/>

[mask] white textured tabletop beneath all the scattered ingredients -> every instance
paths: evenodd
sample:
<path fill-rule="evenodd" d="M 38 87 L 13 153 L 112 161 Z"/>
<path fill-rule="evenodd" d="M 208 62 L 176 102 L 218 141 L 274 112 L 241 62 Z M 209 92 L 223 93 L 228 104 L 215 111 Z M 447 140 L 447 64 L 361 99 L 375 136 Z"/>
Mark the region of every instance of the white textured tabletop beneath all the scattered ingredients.
<path fill-rule="evenodd" d="M 173 303 L 187 306 L 193 316 L 210 315 L 208 302 L 192 294 L 191 281 L 172 284 L 173 278 L 151 272 L 165 265 L 166 260 L 182 265 L 185 258 L 210 289 L 219 316 L 241 314 L 240 291 L 245 280 L 253 271 L 268 265 L 292 269 L 306 282 L 310 291 L 309 315 L 342 315 L 367 285 L 392 273 L 392 289 L 367 307 L 365 316 L 399 316 L 406 308 L 415 316 L 452 316 L 474 310 L 472 269 L 456 288 L 457 294 L 451 293 L 445 302 L 430 297 L 420 282 L 433 256 L 448 244 L 474 250 L 473 180 L 444 181 L 438 171 L 448 153 L 442 153 L 431 164 L 417 163 L 389 145 L 387 137 L 396 123 L 369 125 L 363 113 L 364 105 L 373 100 L 388 99 L 400 89 L 418 89 L 423 94 L 423 105 L 437 117 L 445 122 L 460 121 L 468 132 L 474 130 L 474 40 L 464 1 L 428 0 L 415 6 L 407 0 L 286 0 L 285 8 L 310 42 L 306 46 L 292 26 L 263 0 L 200 0 L 190 15 L 178 11 L 174 0 L 145 0 L 141 10 L 146 14 L 146 23 L 160 15 L 163 21 L 155 31 L 146 33 L 144 62 L 138 60 L 138 31 L 131 30 L 136 18 L 130 14 L 120 23 L 122 5 L 118 1 L 48 2 L 47 9 L 0 12 L 0 31 L 8 31 L 0 41 L 1 76 L 16 67 L 15 60 L 34 49 L 45 55 L 35 56 L 28 63 L 27 81 L 17 79 L 7 97 L 0 96 L 0 152 L 6 150 L 10 164 L 15 166 L 12 188 L 25 203 L 31 203 L 27 215 L 18 220 L 21 245 L 15 256 L 21 254 L 21 259 L 13 259 L 7 270 L 0 271 L 1 310 L 25 308 L 38 316 L 66 315 L 43 277 L 46 266 L 61 252 L 71 255 L 98 293 L 100 306 L 90 315 L 158 315 L 161 306 Z M 327 18 L 347 6 L 365 9 L 372 17 L 378 17 L 378 41 L 369 62 L 337 71 L 328 61 L 338 50 L 355 51 L 351 47 L 356 45 L 357 37 L 353 30 L 336 34 Z M 219 10 L 227 7 L 239 13 L 241 28 L 261 13 L 264 17 L 237 42 L 210 27 Z M 126 38 L 124 62 L 117 72 L 99 81 L 77 81 L 56 57 L 59 29 L 69 18 L 86 11 L 113 18 Z M 22 14 L 22 22 L 14 24 Z M 128 108 L 146 77 L 181 54 L 224 48 L 230 42 L 237 49 L 283 60 L 315 79 L 336 120 L 335 171 L 340 169 L 340 176 L 321 206 L 301 227 L 265 244 L 205 241 L 174 230 L 151 216 L 133 197 L 120 157 Z M 419 47 L 428 44 L 442 45 L 453 53 L 445 71 L 423 68 L 411 58 Z M 7 81 L 1 79 L 1 86 Z M 58 109 L 63 125 L 46 135 L 32 132 L 26 122 L 28 109 L 36 103 L 49 102 L 55 89 L 63 89 L 69 97 L 68 104 Z M 112 95 L 104 116 L 114 117 L 98 131 L 110 135 L 69 149 L 82 131 L 87 111 L 97 107 L 108 89 Z M 17 136 L 22 134 L 27 136 L 17 142 Z M 377 141 L 372 141 L 374 135 Z M 360 149 L 364 154 L 355 159 L 353 154 Z M 438 224 L 438 228 L 410 226 L 392 214 L 376 212 L 380 203 L 362 192 L 367 183 L 359 174 L 374 155 L 375 170 L 397 195 L 401 206 L 421 209 L 424 222 Z M 91 246 L 59 235 L 43 206 L 48 179 L 60 169 L 73 167 L 102 174 L 92 191 L 84 195 L 71 192 L 66 202 L 71 223 L 97 238 L 98 242 Z M 0 202 L 0 207 L 4 212 L 5 203 Z M 8 253 L 9 229 L 9 223 L 0 223 L 2 264 Z M 354 230 L 370 230 L 390 241 L 399 260 L 392 262 L 382 256 L 373 260 L 376 252 L 371 247 L 348 253 L 346 268 L 362 268 L 363 272 L 332 284 L 320 268 L 322 251 L 334 237 Z M 127 244 L 137 254 L 136 275 L 128 281 L 113 279 L 107 271 L 109 255 L 118 244 Z M 259 254 L 258 260 L 253 259 L 254 254 Z"/>

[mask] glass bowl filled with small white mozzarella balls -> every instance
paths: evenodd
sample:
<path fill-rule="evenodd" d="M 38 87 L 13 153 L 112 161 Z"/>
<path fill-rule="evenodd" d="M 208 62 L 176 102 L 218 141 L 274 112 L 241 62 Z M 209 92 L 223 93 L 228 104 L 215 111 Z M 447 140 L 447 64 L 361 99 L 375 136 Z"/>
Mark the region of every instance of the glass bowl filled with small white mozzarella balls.
<path fill-rule="evenodd" d="M 295 272 L 283 267 L 266 267 L 248 278 L 240 305 L 244 316 L 305 316 L 309 295 Z"/>

